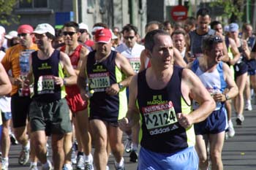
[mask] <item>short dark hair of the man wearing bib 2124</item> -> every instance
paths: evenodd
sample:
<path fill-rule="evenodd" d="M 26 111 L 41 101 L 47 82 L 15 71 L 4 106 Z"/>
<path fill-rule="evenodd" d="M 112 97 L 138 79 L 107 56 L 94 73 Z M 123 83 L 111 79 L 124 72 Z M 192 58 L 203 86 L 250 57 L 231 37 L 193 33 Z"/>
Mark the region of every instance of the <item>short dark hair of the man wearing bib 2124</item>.
<path fill-rule="evenodd" d="M 152 52 L 153 47 L 155 45 L 155 37 L 157 35 L 166 35 L 166 36 L 170 36 L 170 34 L 168 34 L 166 31 L 163 31 L 162 29 L 156 29 L 153 31 L 150 31 L 146 34 L 145 36 L 145 48 L 147 50 L 150 50 Z"/>

